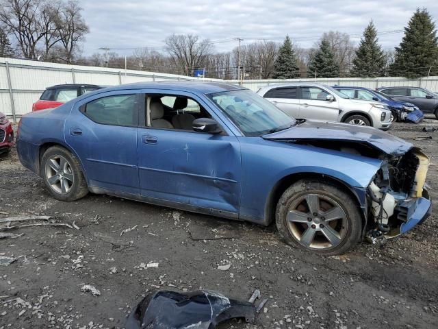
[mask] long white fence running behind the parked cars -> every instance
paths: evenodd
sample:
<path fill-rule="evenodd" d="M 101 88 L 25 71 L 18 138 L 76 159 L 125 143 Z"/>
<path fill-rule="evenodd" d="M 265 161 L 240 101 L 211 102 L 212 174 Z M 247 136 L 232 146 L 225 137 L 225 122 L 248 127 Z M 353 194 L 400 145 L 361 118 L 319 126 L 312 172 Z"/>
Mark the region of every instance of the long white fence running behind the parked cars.
<path fill-rule="evenodd" d="M 250 90 L 257 91 L 268 84 L 283 82 L 319 82 L 331 86 L 361 86 L 368 88 L 387 86 L 420 86 L 438 91 L 438 77 L 422 77 L 408 80 L 403 77 L 377 77 L 374 79 L 333 78 L 333 79 L 293 79 L 293 80 L 219 80 L 187 77 L 184 75 L 153 73 L 123 69 L 108 69 L 94 66 L 77 66 L 0 58 L 0 112 L 7 114 L 14 121 L 30 112 L 32 103 L 38 100 L 45 88 L 55 84 L 99 84 L 112 86 L 132 82 L 188 80 L 205 82 L 227 82 L 242 84 Z"/>

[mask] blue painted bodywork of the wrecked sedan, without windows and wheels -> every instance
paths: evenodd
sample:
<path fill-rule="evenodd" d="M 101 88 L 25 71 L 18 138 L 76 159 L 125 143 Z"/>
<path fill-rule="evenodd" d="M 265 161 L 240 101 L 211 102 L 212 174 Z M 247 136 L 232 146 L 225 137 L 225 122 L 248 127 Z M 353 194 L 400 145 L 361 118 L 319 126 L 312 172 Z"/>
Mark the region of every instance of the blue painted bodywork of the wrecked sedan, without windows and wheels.
<path fill-rule="evenodd" d="M 26 114 L 16 141 L 18 156 L 25 167 L 40 174 L 42 152 L 61 145 L 79 160 L 93 193 L 261 225 L 268 225 L 274 218 L 276 201 L 285 186 L 303 177 L 326 178 L 354 195 L 366 223 L 367 188 L 381 169 L 383 158 L 318 143 L 360 145 L 389 158 L 403 156 L 413 147 L 372 127 L 312 121 L 264 136 L 244 136 L 207 97 L 229 90 L 242 88 L 163 82 L 96 90 L 59 108 Z M 149 93 L 191 97 L 209 111 L 224 133 L 105 125 L 81 112 L 84 104 L 108 95 Z M 429 199 L 420 199 L 422 206 L 430 206 Z M 420 219 L 426 215 L 416 213 Z"/>

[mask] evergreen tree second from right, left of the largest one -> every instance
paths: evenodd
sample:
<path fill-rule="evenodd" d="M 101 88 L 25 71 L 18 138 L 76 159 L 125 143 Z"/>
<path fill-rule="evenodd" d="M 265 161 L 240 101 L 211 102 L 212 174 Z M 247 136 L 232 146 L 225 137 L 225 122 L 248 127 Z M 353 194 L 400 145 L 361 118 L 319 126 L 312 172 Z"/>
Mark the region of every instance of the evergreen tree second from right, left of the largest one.
<path fill-rule="evenodd" d="M 356 50 L 356 57 L 353 60 L 353 67 L 350 72 L 352 77 L 379 77 L 384 75 L 386 56 L 377 41 L 376 27 L 370 21 L 370 24 L 363 31 L 363 38 Z"/>

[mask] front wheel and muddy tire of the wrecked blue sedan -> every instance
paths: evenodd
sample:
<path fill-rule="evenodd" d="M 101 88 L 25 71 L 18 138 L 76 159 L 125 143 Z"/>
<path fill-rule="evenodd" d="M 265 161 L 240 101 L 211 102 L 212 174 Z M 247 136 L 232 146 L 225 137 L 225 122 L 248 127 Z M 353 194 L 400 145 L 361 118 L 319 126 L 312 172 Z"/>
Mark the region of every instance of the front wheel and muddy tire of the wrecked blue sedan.
<path fill-rule="evenodd" d="M 348 193 L 329 182 L 300 180 L 289 186 L 276 206 L 275 220 L 287 244 L 317 254 L 344 254 L 361 240 L 359 207 Z"/>

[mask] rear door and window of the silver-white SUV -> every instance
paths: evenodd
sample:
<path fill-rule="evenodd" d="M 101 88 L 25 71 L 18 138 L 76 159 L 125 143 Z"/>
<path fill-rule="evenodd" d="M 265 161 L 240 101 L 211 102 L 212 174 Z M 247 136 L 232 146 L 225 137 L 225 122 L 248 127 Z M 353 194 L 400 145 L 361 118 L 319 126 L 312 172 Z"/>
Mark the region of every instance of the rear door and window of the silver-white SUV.
<path fill-rule="evenodd" d="M 300 100 L 298 99 L 298 87 L 277 87 L 268 90 L 263 95 L 263 98 L 268 99 L 277 108 L 280 108 L 291 117 L 298 118 L 300 114 Z"/>

